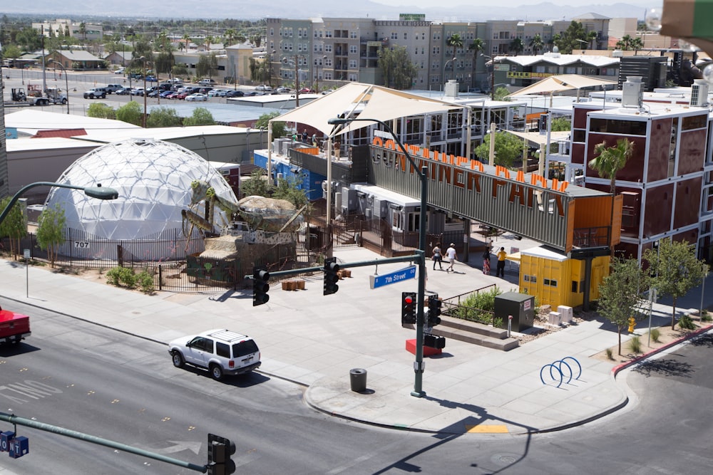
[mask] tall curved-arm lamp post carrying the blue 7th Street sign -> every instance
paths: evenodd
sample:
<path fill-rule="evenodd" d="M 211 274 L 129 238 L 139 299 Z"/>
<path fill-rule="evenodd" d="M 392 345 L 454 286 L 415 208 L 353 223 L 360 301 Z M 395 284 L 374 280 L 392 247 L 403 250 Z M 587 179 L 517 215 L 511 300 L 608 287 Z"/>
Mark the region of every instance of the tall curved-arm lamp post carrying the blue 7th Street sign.
<path fill-rule="evenodd" d="M 394 131 L 391 130 L 391 127 L 389 127 L 386 122 L 383 122 L 379 119 L 369 119 L 369 118 L 349 118 L 349 119 L 342 119 L 342 118 L 332 118 L 327 120 L 327 123 L 332 124 L 332 125 L 344 125 L 344 124 L 349 124 L 349 122 L 354 122 L 354 121 L 366 121 L 366 122 L 376 122 L 378 124 L 381 124 L 386 132 L 391 134 L 391 137 L 394 137 L 394 141 L 396 142 L 397 145 L 399 145 L 399 148 L 401 149 L 401 152 L 404 153 L 406 156 L 406 160 L 409 160 L 409 163 L 411 164 L 411 167 L 414 167 L 416 169 L 416 173 L 419 175 L 419 179 L 421 179 L 421 210 L 419 214 L 419 251 L 418 254 L 421 256 L 421 260 L 419 262 L 419 301 L 418 301 L 418 307 L 416 311 L 416 361 L 414 362 L 414 372 L 416 373 L 415 378 L 414 378 L 414 390 L 411 391 L 411 396 L 414 397 L 424 397 L 426 395 L 426 392 L 423 390 L 423 380 L 424 380 L 424 306 L 426 304 L 426 206 L 428 205 L 428 197 L 429 197 L 429 182 L 428 182 L 428 168 L 423 167 L 422 169 L 419 169 L 418 165 L 416 165 L 416 162 L 414 162 L 414 159 L 411 158 L 411 155 L 409 154 L 408 150 L 406 150 L 406 147 L 404 147 L 404 144 L 401 143 L 401 140 L 399 140 L 399 137 L 394 134 Z M 332 157 L 327 157 L 327 160 L 331 161 Z M 328 163 L 328 166 L 332 165 L 331 162 Z M 327 226 L 329 226 L 329 222 L 327 222 Z"/>

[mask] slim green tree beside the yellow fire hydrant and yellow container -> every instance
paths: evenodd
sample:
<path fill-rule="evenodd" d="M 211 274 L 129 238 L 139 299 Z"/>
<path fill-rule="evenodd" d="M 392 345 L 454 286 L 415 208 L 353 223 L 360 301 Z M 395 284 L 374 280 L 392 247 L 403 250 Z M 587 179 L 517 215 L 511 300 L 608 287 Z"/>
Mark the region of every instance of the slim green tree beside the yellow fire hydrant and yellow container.
<path fill-rule="evenodd" d="M 622 328 L 629 324 L 630 317 L 641 315 L 640 292 L 646 289 L 647 279 L 636 259 L 612 259 L 610 275 L 599 284 L 597 311 L 616 325 L 620 355 Z"/>

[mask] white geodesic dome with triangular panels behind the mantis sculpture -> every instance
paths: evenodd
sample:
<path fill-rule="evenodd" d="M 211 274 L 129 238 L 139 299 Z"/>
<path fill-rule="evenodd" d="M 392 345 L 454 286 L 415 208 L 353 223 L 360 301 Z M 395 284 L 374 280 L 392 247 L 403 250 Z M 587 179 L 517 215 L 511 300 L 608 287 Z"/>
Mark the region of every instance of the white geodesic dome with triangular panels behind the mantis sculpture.
<path fill-rule="evenodd" d="M 81 187 L 111 187 L 118 199 L 103 201 L 81 190 L 53 187 L 46 205 L 59 204 L 67 228 L 96 239 L 158 239 L 183 228 L 181 212 L 190 209 L 194 180 L 209 184 L 218 197 L 237 202 L 222 175 L 200 155 L 160 140 L 124 140 L 89 152 L 58 179 Z M 202 205 L 195 211 L 202 215 Z M 215 209 L 214 224 L 214 231 L 227 224 L 220 209 Z"/>

